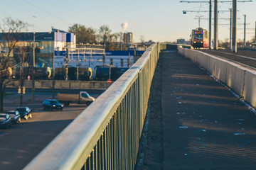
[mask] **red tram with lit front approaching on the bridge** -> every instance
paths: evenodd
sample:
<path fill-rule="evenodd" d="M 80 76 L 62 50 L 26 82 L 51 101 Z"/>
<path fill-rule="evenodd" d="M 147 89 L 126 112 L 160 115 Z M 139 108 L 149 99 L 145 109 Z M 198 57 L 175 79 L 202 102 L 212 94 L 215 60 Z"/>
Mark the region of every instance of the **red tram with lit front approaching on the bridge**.
<path fill-rule="evenodd" d="M 192 30 L 191 46 L 194 48 L 209 47 L 208 31 L 203 28 Z"/>

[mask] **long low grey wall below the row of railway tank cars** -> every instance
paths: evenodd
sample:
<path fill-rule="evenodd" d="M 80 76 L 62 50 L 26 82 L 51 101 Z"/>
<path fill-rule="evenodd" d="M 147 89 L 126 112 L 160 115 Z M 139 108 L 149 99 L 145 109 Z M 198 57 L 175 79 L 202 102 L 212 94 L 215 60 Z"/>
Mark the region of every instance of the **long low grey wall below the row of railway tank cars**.
<path fill-rule="evenodd" d="M 7 84 L 7 88 L 18 88 L 20 81 L 11 80 Z M 24 84 L 28 89 L 31 89 L 32 81 L 24 80 Z M 55 80 L 55 89 L 87 89 L 87 90 L 106 90 L 110 84 L 107 84 L 107 81 L 63 81 Z M 35 88 L 36 89 L 52 89 L 53 81 L 51 80 L 36 80 Z"/>

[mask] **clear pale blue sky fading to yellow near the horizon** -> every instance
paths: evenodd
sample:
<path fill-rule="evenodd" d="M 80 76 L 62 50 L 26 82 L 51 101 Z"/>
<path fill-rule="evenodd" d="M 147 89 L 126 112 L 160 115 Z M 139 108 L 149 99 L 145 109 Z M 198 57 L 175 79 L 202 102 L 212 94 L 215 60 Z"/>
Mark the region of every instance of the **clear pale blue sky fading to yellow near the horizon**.
<path fill-rule="evenodd" d="M 197 16 L 208 18 L 208 13 L 187 13 L 183 10 L 208 10 L 208 3 L 180 3 L 180 0 L 0 0 L 0 22 L 11 16 L 30 23 L 31 32 L 50 31 L 51 27 L 68 30 L 74 23 L 95 29 L 107 25 L 112 33 L 122 31 L 121 24 L 128 22 L 127 31 L 134 34 L 139 42 L 145 40 L 159 42 L 176 41 L 177 38 L 189 40 L 191 30 L 198 27 Z M 189 1 L 189 0 L 188 0 Z M 195 0 L 191 0 L 195 1 Z M 207 1 L 207 0 L 201 0 Z M 214 1 L 214 0 L 213 0 Z M 220 10 L 228 10 L 232 3 L 219 3 Z M 256 2 L 238 3 L 238 23 L 244 23 L 242 14 L 247 15 L 247 40 L 255 36 Z M 220 18 L 229 18 L 229 12 L 220 12 Z M 229 20 L 219 23 L 229 24 Z M 208 30 L 208 20 L 201 20 L 201 27 Z M 238 38 L 243 39 L 242 25 L 238 26 Z M 213 28 L 212 28 L 213 30 Z M 219 39 L 229 38 L 229 26 L 219 26 Z"/>

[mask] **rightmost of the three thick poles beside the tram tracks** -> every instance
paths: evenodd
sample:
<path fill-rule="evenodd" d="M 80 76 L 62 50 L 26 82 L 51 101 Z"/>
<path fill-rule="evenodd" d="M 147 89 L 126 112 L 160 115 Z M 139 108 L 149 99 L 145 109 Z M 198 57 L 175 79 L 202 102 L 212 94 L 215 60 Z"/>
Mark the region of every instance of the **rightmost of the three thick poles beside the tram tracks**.
<path fill-rule="evenodd" d="M 237 21 L 237 4 L 238 0 L 233 0 L 233 27 L 232 27 L 232 50 L 237 52 L 237 41 L 236 41 L 236 21 Z"/>

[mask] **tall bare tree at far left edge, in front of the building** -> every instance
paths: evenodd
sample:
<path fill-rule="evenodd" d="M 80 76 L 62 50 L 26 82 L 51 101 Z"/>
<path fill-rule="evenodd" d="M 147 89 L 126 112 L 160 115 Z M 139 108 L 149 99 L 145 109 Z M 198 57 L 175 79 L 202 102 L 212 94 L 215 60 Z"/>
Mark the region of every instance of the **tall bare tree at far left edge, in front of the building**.
<path fill-rule="evenodd" d="M 4 110 L 4 80 L 9 76 L 8 70 L 11 67 L 10 57 L 20 40 L 21 30 L 26 29 L 28 23 L 24 23 L 20 20 L 14 20 L 11 17 L 3 19 L 3 23 L 0 25 L 1 41 L 4 42 L 6 53 L 1 53 L 0 56 L 0 111 Z M 7 75 L 6 75 L 7 74 Z"/>

